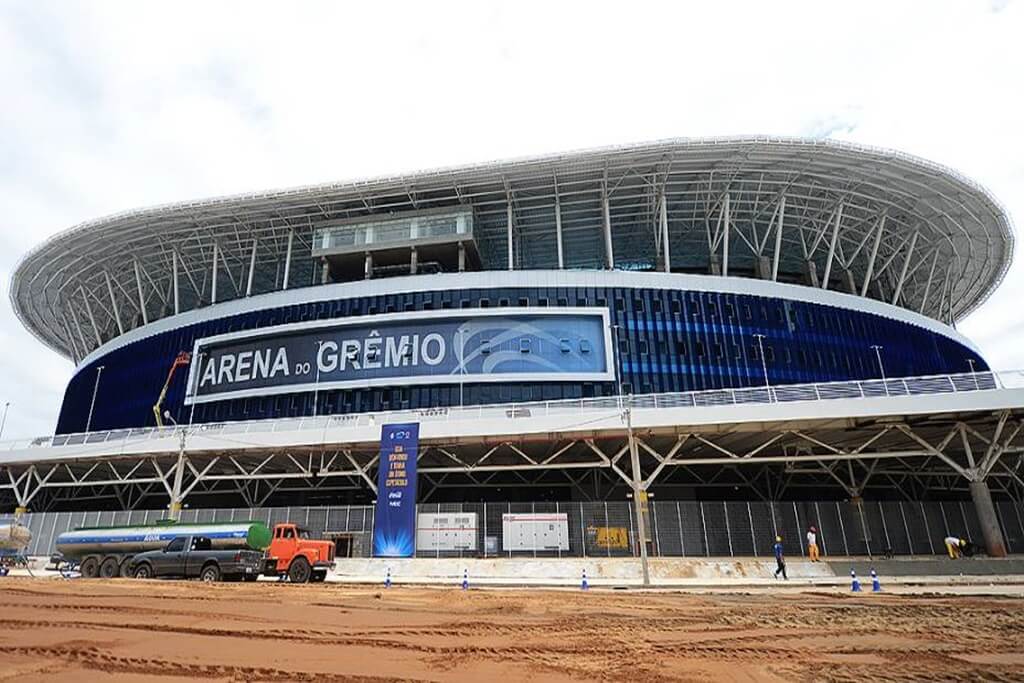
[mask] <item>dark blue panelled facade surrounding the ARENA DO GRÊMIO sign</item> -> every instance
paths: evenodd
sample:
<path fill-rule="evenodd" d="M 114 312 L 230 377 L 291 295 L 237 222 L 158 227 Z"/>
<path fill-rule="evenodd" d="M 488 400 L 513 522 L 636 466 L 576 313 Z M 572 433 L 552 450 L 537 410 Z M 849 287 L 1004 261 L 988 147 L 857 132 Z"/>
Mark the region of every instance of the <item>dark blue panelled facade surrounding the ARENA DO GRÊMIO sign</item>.
<path fill-rule="evenodd" d="M 411 310 L 525 307 L 607 307 L 617 325 L 624 388 L 633 393 L 760 385 L 764 382 L 755 335 L 764 335 L 772 384 L 879 377 L 872 345 L 883 348 L 889 377 L 987 369 L 959 342 L 922 327 L 839 306 L 709 291 L 615 287 L 508 288 L 387 294 L 315 301 L 228 315 L 182 326 L 93 359 L 72 379 L 58 433 L 84 431 L 93 389 L 93 430 L 154 424 L 153 403 L 179 351 L 201 337 L 286 323 Z M 96 369 L 103 366 L 98 386 Z M 176 376 L 165 408 L 179 422 L 256 420 L 312 413 L 313 394 L 238 398 L 183 405 L 185 373 Z M 614 393 L 613 382 L 469 384 L 463 402 L 552 400 Z M 407 386 L 321 391 L 318 414 L 361 413 L 459 404 L 460 387 Z"/>

